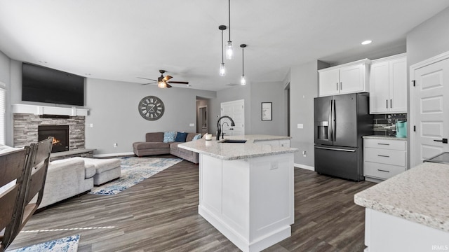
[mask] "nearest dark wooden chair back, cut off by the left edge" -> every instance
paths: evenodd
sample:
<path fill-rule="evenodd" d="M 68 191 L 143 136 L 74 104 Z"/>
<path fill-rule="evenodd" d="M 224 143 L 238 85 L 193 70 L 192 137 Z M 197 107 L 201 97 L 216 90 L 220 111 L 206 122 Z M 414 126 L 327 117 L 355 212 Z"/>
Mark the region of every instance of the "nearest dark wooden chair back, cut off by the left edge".
<path fill-rule="evenodd" d="M 18 212 L 22 211 L 23 192 L 26 188 L 25 163 L 29 147 L 0 155 L 0 251 L 11 244 Z M 6 189 L 7 188 L 7 189 Z"/>

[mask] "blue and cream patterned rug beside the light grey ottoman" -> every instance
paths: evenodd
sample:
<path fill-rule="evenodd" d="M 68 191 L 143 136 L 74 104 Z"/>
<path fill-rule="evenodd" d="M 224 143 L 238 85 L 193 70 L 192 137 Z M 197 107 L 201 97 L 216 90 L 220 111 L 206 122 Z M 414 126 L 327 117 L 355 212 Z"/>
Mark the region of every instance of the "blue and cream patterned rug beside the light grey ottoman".
<path fill-rule="evenodd" d="M 180 158 L 121 158 L 120 179 L 95 187 L 90 194 L 116 195 L 181 161 Z"/>

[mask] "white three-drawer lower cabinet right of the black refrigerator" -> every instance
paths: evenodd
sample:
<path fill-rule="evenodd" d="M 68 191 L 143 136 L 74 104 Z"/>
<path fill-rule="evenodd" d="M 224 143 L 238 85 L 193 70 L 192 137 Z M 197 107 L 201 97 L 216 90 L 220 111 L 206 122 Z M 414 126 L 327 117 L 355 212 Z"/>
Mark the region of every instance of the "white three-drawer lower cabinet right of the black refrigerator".
<path fill-rule="evenodd" d="M 406 146 L 405 140 L 363 139 L 363 176 L 376 181 L 405 172 Z"/>

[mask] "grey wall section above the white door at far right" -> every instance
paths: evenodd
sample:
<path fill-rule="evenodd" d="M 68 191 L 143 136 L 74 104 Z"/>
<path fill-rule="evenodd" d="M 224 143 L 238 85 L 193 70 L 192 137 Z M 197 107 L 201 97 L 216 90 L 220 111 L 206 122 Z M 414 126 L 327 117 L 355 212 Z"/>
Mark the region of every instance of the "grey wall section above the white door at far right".
<path fill-rule="evenodd" d="M 449 50 L 448 24 L 449 8 L 445 8 L 407 34 L 408 66 Z"/>

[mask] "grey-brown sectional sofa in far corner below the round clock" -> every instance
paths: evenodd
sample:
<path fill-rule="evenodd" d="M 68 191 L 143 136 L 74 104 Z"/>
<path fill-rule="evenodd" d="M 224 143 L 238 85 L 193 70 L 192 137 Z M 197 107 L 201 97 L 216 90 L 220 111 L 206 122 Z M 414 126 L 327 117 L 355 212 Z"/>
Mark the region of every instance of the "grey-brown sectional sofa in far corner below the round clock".
<path fill-rule="evenodd" d="M 200 133 L 187 133 L 185 141 L 192 141 L 198 134 Z M 193 162 L 194 164 L 198 164 L 199 154 L 178 148 L 178 144 L 182 144 L 182 142 L 169 141 L 164 143 L 163 132 L 149 132 L 145 134 L 145 142 L 140 141 L 133 143 L 133 151 L 138 157 L 171 154 L 178 158 Z"/>

